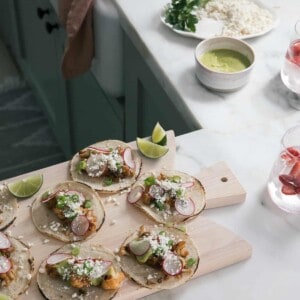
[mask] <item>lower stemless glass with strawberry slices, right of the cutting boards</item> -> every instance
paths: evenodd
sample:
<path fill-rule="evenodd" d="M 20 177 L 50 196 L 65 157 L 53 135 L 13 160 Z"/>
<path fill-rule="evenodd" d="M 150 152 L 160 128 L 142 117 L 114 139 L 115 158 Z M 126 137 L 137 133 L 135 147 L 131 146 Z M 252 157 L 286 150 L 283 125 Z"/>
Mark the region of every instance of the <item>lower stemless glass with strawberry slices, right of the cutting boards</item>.
<path fill-rule="evenodd" d="M 281 144 L 268 182 L 269 195 L 282 210 L 300 214 L 300 125 L 290 128 Z"/>

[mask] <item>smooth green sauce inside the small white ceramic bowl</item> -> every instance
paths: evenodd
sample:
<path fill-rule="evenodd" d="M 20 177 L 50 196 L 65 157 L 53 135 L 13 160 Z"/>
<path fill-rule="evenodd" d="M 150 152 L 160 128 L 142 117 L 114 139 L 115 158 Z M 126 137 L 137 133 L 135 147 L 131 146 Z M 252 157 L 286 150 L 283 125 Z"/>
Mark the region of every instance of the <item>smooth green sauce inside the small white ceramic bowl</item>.
<path fill-rule="evenodd" d="M 208 69 L 225 73 L 243 71 L 251 64 L 245 55 L 230 49 L 207 51 L 200 56 L 199 61 Z"/>

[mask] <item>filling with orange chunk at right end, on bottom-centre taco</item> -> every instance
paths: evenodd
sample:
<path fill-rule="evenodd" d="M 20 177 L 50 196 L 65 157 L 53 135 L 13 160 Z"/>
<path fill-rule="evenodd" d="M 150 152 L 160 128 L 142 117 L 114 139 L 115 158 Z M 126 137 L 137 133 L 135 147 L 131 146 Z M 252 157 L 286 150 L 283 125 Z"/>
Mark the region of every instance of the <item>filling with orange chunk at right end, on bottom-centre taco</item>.
<path fill-rule="evenodd" d="M 45 269 L 50 277 L 60 278 L 77 289 L 94 286 L 104 290 L 116 290 L 125 278 L 109 260 L 79 258 L 66 253 L 56 253 L 48 257 Z"/>

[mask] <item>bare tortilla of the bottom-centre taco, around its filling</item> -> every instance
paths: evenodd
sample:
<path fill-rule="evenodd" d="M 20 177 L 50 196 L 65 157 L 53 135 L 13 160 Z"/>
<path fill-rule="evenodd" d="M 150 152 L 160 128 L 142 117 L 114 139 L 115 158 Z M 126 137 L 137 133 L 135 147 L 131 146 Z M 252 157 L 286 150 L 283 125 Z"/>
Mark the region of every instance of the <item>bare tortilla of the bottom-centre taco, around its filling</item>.
<path fill-rule="evenodd" d="M 109 260 L 113 263 L 113 266 L 116 271 L 120 271 L 119 264 L 113 255 L 113 253 L 100 246 L 100 245 L 91 245 L 90 243 L 74 243 L 75 247 L 79 247 L 79 257 L 82 258 L 102 258 L 104 260 Z M 55 252 L 59 253 L 70 253 L 72 250 L 71 245 L 65 245 L 62 248 L 56 250 Z M 69 300 L 72 299 L 72 295 L 75 293 L 79 297 L 82 292 L 83 299 L 111 299 L 115 296 L 118 290 L 104 290 L 101 287 L 89 287 L 87 289 L 77 289 L 70 287 L 65 281 L 61 278 L 53 278 L 48 276 L 47 272 L 43 272 L 45 270 L 46 259 L 42 262 L 39 267 L 39 272 L 37 274 L 37 283 L 41 293 L 45 296 L 46 299 L 49 300 Z M 67 287 L 67 288 L 66 288 Z"/>

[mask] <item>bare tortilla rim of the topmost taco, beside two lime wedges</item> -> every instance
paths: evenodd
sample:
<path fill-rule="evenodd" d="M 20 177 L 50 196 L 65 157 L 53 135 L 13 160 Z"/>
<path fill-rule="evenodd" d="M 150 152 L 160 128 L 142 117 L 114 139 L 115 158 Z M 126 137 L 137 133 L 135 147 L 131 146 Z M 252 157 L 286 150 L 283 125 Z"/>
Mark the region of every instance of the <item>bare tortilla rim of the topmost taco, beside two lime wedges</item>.
<path fill-rule="evenodd" d="M 118 140 L 106 140 L 91 146 L 98 147 L 98 148 L 105 148 L 105 149 L 116 148 L 118 146 L 122 148 L 130 148 L 128 144 Z M 76 167 L 80 161 L 80 157 L 78 153 L 76 153 L 71 160 L 71 177 L 74 181 L 84 183 L 98 191 L 112 192 L 112 193 L 121 191 L 123 189 L 130 187 L 136 181 L 136 178 L 138 177 L 141 170 L 142 160 L 139 157 L 137 151 L 131 149 L 131 153 L 132 153 L 132 158 L 135 162 L 135 175 L 133 177 L 124 178 L 118 183 L 113 183 L 112 185 L 105 186 L 103 183 L 104 181 L 103 177 L 100 178 L 90 177 L 85 172 L 79 174 L 76 171 Z"/>

